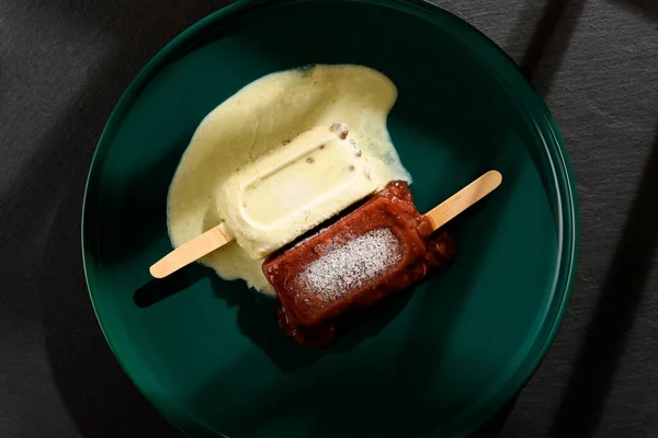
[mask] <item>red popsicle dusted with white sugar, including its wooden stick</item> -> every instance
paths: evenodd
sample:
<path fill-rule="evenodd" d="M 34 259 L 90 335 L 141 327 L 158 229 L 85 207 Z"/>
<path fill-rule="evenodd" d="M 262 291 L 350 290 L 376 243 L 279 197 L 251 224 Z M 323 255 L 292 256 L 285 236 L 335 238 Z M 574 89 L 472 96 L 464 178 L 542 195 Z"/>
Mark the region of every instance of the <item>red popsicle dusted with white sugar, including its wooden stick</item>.
<path fill-rule="evenodd" d="M 263 273 L 281 301 L 282 327 L 302 344 L 331 343 L 345 314 L 445 266 L 456 244 L 446 232 L 433 231 L 491 189 L 472 189 L 469 198 L 460 192 L 452 204 L 422 216 L 408 185 L 395 181 L 331 226 L 273 254 Z"/>

